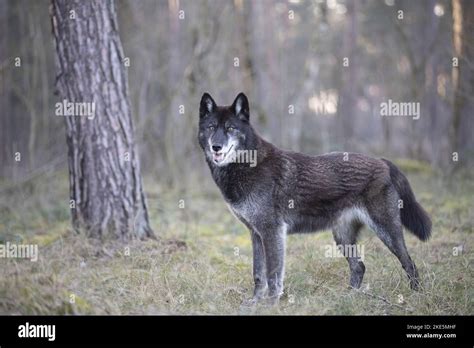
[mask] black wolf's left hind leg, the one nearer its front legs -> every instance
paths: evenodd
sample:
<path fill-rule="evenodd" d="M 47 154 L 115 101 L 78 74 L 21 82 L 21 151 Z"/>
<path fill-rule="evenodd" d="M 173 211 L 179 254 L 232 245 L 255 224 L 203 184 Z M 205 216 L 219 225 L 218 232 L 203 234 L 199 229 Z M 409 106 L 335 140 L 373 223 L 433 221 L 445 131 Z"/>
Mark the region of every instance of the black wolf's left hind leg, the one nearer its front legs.
<path fill-rule="evenodd" d="M 334 240 L 338 247 L 340 247 L 349 263 L 351 270 L 350 284 L 353 288 L 360 288 L 362 279 L 364 278 L 365 265 L 360 259 L 360 255 L 354 253 L 357 251 L 357 236 L 359 234 L 362 224 L 358 221 L 350 221 L 345 224 L 338 224 L 333 228 Z M 347 251 L 352 251 L 350 254 Z"/>

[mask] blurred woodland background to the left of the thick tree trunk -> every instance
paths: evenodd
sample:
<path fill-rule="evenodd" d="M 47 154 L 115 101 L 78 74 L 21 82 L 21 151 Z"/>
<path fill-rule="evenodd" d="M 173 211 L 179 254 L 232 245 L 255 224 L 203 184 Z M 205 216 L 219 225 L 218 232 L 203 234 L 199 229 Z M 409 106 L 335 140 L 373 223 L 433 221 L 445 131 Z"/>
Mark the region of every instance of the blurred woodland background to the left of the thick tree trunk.
<path fill-rule="evenodd" d="M 0 0 L 0 177 L 65 164 L 54 111 L 54 50 L 46 1 Z"/>

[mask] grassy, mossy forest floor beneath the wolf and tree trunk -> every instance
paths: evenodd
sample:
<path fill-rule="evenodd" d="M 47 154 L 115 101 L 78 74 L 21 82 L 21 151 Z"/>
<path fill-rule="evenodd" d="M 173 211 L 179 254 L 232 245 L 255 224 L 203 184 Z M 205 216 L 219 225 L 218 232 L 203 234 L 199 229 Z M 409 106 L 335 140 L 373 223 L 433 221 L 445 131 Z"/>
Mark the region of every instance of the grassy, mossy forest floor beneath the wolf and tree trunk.
<path fill-rule="evenodd" d="M 39 245 L 37 262 L 0 259 L 0 314 L 473 315 L 474 180 L 408 176 L 433 220 L 426 243 L 405 232 L 421 291 L 367 229 L 365 278 L 350 290 L 345 259 L 325 257 L 325 231 L 288 237 L 285 294 L 253 309 L 241 306 L 252 294 L 250 236 L 210 178 L 208 189 L 181 195 L 146 180 L 159 240 L 128 244 L 71 232 L 66 172 L 0 187 L 0 243 Z"/>

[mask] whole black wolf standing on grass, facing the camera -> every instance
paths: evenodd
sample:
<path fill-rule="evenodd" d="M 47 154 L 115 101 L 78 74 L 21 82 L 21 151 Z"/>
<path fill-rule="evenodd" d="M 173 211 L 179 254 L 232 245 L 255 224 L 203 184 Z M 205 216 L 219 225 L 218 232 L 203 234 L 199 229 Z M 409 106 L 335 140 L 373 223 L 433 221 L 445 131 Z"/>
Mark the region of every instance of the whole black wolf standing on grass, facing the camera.
<path fill-rule="evenodd" d="M 364 224 L 400 260 L 411 287 L 418 288 L 402 225 L 424 241 L 431 221 L 392 162 L 357 153 L 308 156 L 281 150 L 255 132 L 243 93 L 231 106 L 217 106 L 205 93 L 199 116 L 199 144 L 212 177 L 251 232 L 253 302 L 267 294 L 278 300 L 283 293 L 288 233 L 332 229 L 338 246 L 355 246 Z M 251 159 L 250 154 L 254 165 L 241 160 Z M 359 288 L 365 266 L 358 255 L 345 256 L 350 285 Z"/>

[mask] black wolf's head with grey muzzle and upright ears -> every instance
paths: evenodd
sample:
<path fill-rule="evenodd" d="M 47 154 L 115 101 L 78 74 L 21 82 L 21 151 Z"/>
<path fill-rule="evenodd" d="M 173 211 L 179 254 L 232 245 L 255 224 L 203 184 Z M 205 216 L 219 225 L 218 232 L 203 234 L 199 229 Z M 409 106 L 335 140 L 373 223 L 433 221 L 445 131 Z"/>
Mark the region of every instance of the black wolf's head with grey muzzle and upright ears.
<path fill-rule="evenodd" d="M 211 163 L 232 163 L 237 151 L 253 149 L 254 134 L 249 123 L 249 102 L 239 93 L 230 106 L 218 106 L 204 93 L 199 108 L 199 144 Z"/>

